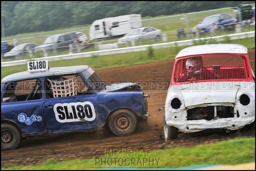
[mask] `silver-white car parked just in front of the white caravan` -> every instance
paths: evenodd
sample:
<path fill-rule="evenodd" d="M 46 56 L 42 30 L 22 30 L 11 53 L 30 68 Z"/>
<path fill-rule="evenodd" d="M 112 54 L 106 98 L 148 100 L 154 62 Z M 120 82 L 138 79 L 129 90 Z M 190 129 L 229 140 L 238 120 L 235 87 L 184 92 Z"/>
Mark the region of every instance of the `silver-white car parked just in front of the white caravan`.
<path fill-rule="evenodd" d="M 124 37 L 118 39 L 117 43 L 126 43 L 127 41 L 130 42 L 133 40 L 139 39 L 155 39 L 159 40 L 161 38 L 161 30 L 155 27 L 141 27 L 133 29 L 130 33 L 124 35 Z"/>

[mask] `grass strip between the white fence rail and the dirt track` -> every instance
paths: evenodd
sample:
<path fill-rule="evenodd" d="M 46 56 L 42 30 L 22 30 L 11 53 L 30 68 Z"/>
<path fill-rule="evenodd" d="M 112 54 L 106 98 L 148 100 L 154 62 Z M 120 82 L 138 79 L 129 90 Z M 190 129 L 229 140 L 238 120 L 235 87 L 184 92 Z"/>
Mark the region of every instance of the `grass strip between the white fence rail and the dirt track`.
<path fill-rule="evenodd" d="M 214 40 L 211 43 L 216 43 Z M 220 43 L 235 43 L 242 44 L 248 49 L 255 48 L 255 37 L 229 40 L 227 37 L 226 40 L 221 41 Z M 194 42 L 195 45 L 205 44 L 205 41 Z M 94 55 L 89 58 L 76 58 L 68 60 L 58 60 L 58 61 L 49 61 L 50 67 L 59 67 L 59 66 L 76 66 L 76 65 L 89 65 L 94 70 L 105 69 L 105 68 L 114 68 L 119 66 L 127 66 L 132 64 L 141 64 L 146 62 L 161 61 L 166 59 L 174 58 L 179 51 L 189 46 L 176 46 L 170 48 L 160 48 L 139 51 L 139 52 L 129 52 L 113 55 L 103 55 L 97 56 Z M 17 72 L 27 71 L 27 65 L 19 66 L 8 66 L 1 67 L 1 79 L 5 76 Z"/>

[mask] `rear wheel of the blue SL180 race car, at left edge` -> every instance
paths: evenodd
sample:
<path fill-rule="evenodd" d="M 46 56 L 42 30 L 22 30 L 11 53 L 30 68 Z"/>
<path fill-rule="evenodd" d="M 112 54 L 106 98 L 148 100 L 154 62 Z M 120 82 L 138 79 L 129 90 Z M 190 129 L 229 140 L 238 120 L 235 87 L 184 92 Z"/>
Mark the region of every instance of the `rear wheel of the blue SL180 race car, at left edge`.
<path fill-rule="evenodd" d="M 20 144 L 20 132 L 12 124 L 2 123 L 1 140 L 1 150 L 13 150 Z"/>

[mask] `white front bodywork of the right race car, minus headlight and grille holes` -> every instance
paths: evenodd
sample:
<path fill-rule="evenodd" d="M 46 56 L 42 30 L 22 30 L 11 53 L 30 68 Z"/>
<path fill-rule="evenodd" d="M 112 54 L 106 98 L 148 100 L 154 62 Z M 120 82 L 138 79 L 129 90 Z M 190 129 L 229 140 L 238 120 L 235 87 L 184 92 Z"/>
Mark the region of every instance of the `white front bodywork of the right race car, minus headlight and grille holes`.
<path fill-rule="evenodd" d="M 242 105 L 239 98 L 248 95 L 250 103 Z M 173 109 L 171 101 L 179 98 L 181 106 Z M 187 120 L 187 110 L 204 106 L 233 106 L 239 117 L 213 120 Z M 247 113 L 247 114 L 244 114 Z M 171 86 L 165 101 L 165 120 L 170 126 L 182 132 L 196 132 L 208 128 L 239 129 L 255 120 L 255 83 L 254 82 L 199 82 Z"/>

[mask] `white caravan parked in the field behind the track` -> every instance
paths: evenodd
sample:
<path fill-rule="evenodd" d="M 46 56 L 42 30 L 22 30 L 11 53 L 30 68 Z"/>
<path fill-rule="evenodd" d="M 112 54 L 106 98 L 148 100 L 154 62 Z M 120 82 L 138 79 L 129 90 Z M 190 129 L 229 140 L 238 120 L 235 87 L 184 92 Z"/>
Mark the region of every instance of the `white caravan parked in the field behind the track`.
<path fill-rule="evenodd" d="M 132 22 L 132 23 L 131 23 Z M 127 24 L 125 24 L 127 23 Z M 134 28 L 140 28 L 141 14 L 122 15 L 93 21 L 89 36 L 90 40 L 111 36 L 123 36 Z"/>

